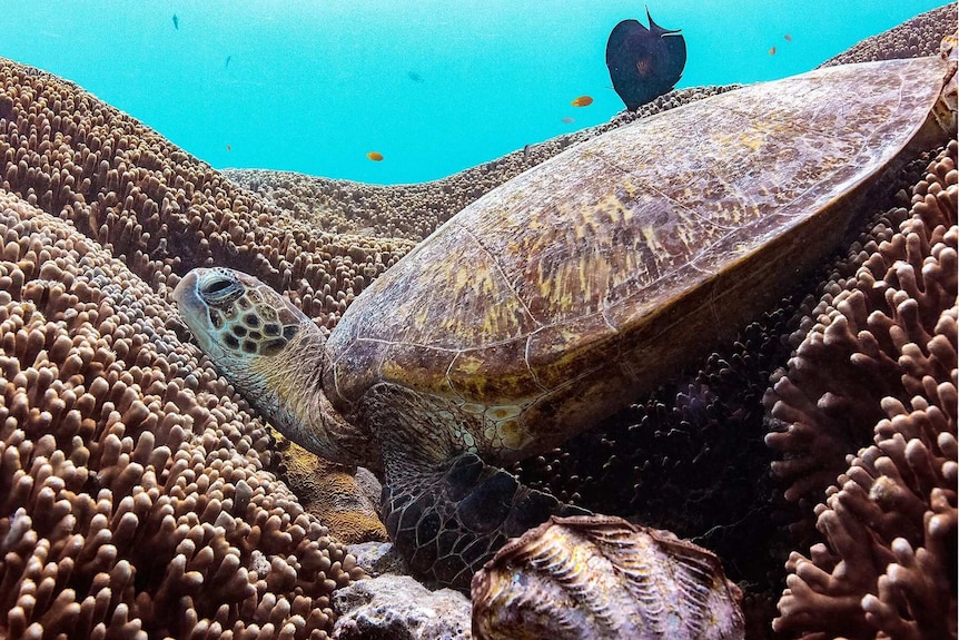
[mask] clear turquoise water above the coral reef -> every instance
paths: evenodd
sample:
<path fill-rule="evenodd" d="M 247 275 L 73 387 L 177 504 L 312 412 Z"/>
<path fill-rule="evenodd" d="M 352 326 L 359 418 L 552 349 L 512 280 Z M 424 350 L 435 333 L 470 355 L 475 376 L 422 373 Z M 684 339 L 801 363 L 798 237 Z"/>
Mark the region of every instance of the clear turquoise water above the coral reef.
<path fill-rule="evenodd" d="M 682 29 L 678 86 L 691 87 L 805 71 L 941 4 L 675 0 L 650 11 Z M 621 110 L 604 56 L 627 18 L 645 22 L 643 4 L 19 0 L 0 12 L 0 56 L 78 82 L 217 168 L 413 183 Z M 595 101 L 572 107 L 581 95 Z"/>

